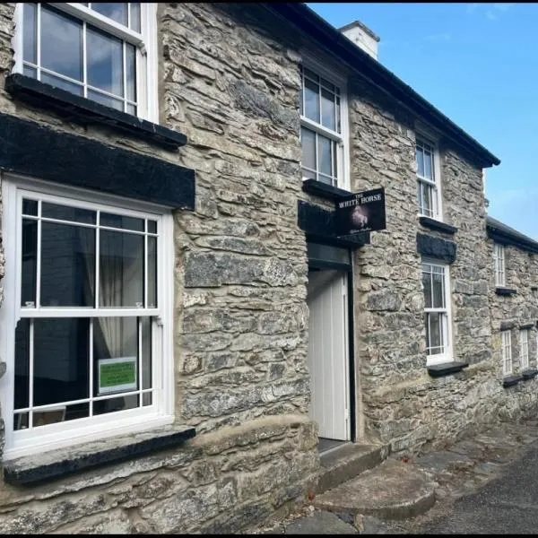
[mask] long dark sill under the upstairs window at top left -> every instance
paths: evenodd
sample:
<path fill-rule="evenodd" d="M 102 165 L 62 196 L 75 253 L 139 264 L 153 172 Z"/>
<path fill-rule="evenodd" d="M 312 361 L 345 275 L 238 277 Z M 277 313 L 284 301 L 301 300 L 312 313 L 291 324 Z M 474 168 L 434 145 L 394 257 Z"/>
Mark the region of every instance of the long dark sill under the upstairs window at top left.
<path fill-rule="evenodd" d="M 5 79 L 5 89 L 17 99 L 35 107 L 52 109 L 84 126 L 96 124 L 108 126 L 146 142 L 159 144 L 168 150 L 177 150 L 187 143 L 185 134 L 121 112 L 116 108 L 101 105 L 23 74 L 10 74 Z"/>

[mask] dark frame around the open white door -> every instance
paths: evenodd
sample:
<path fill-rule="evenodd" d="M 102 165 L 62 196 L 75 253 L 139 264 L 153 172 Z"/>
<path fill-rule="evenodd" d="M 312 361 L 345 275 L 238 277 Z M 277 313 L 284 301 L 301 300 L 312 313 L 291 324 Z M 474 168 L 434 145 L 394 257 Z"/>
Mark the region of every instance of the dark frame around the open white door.
<path fill-rule="evenodd" d="M 326 245 L 327 247 L 334 247 L 334 243 L 331 244 L 329 242 L 324 243 L 322 241 L 308 241 L 311 243 L 317 243 L 320 245 Z M 349 434 L 351 443 L 355 443 L 357 441 L 357 418 L 356 418 L 356 400 L 357 395 L 355 394 L 355 317 L 353 312 L 353 250 L 351 248 L 345 248 L 345 247 L 339 247 L 344 248 L 345 250 L 349 251 L 349 264 L 343 264 L 339 262 L 333 262 L 329 260 L 324 259 L 316 259 L 316 258 L 310 258 L 308 257 L 308 269 L 337 269 L 340 271 L 343 271 L 346 273 L 346 280 L 347 280 L 347 340 L 348 340 L 348 386 L 349 386 L 349 394 L 348 394 L 348 410 L 349 410 Z"/>

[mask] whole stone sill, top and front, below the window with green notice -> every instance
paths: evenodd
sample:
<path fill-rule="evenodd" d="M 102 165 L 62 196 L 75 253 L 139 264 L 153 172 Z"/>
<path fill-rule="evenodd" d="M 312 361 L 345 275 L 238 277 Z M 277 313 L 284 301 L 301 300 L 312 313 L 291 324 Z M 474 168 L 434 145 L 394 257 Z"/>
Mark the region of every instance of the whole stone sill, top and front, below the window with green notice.
<path fill-rule="evenodd" d="M 4 481 L 25 485 L 62 478 L 100 465 L 116 464 L 178 447 L 196 435 L 194 428 L 167 426 L 102 439 L 4 462 Z"/>

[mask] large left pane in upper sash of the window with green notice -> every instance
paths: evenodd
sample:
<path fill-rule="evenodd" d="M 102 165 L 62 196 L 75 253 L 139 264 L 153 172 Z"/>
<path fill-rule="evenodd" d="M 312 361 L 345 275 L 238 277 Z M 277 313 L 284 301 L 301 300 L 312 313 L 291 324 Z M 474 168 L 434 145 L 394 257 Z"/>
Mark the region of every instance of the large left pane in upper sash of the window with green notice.
<path fill-rule="evenodd" d="M 41 222 L 41 305 L 92 307 L 95 230 Z"/>

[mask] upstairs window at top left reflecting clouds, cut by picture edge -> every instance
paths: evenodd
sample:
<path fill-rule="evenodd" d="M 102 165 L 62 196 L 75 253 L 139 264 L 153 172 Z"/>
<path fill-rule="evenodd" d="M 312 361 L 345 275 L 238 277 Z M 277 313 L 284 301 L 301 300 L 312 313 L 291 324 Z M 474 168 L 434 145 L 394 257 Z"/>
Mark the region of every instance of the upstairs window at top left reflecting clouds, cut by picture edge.
<path fill-rule="evenodd" d="M 18 4 L 14 71 L 157 121 L 155 4 Z"/>

